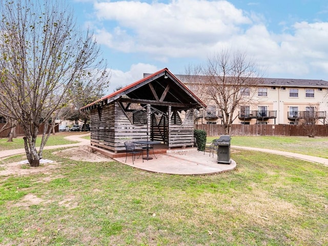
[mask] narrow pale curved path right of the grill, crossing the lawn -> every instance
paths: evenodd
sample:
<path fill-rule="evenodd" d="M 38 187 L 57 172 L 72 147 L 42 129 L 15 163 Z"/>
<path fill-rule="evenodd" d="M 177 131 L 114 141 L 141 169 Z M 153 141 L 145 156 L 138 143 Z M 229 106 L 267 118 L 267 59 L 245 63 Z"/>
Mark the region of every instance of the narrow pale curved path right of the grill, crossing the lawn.
<path fill-rule="evenodd" d="M 303 155 L 303 154 L 292 153 L 292 152 L 287 152 L 287 151 L 270 150 L 270 149 L 254 148 L 254 147 L 233 146 L 233 145 L 231 146 L 231 148 L 242 149 L 242 150 L 254 150 L 254 151 L 261 151 L 261 152 L 266 152 L 266 153 L 271 153 L 271 154 L 283 155 L 283 156 L 288 156 L 288 157 L 293 157 L 293 158 L 297 158 L 297 159 L 320 163 L 320 164 L 323 164 L 324 166 L 328 167 L 328 159 L 327 158 L 322 158 L 322 157 L 317 157 L 317 156 L 312 156 L 312 155 Z"/>

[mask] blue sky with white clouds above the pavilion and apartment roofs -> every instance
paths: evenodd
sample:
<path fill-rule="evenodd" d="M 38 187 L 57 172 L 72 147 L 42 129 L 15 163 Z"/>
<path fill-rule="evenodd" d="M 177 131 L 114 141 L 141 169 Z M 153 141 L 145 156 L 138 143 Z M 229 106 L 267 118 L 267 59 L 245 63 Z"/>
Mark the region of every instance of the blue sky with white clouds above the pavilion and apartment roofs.
<path fill-rule="evenodd" d="M 143 73 L 185 73 L 222 49 L 245 51 L 264 77 L 328 80 L 328 1 L 69 0 L 94 31 L 111 93 Z"/>

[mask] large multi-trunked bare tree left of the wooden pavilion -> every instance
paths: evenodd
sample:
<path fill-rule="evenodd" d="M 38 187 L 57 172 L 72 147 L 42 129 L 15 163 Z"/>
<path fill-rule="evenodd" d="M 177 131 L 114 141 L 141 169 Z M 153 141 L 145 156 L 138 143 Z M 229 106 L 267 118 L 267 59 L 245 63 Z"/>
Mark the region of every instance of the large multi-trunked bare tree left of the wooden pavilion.
<path fill-rule="evenodd" d="M 1 1 L 1 16 L 0 115 L 22 126 L 27 159 L 37 167 L 51 133 L 49 119 L 71 102 L 76 83 L 107 80 L 106 64 L 92 33 L 77 30 L 64 2 Z"/>

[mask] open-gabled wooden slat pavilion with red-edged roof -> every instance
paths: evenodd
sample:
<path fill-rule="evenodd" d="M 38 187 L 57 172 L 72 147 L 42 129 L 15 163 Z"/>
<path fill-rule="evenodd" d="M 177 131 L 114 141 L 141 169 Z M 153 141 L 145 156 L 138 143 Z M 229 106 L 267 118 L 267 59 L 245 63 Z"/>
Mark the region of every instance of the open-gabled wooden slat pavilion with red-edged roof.
<path fill-rule="evenodd" d="M 91 145 L 118 153 L 124 142 L 194 146 L 194 111 L 206 105 L 167 68 L 81 108 L 91 111 Z"/>

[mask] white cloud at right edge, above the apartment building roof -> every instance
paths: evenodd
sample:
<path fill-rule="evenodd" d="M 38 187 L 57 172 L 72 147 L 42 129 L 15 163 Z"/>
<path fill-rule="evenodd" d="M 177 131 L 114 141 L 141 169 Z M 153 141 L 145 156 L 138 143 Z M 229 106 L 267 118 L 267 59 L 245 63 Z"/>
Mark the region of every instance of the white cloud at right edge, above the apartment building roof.
<path fill-rule="evenodd" d="M 275 70 L 298 77 L 326 73 L 328 23 L 302 22 L 292 28 L 294 33 L 277 36 L 280 45 L 273 49 L 277 55 L 269 59 L 271 64 L 275 63 Z"/>

